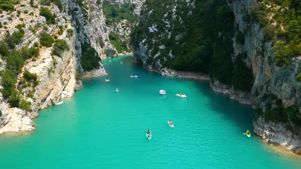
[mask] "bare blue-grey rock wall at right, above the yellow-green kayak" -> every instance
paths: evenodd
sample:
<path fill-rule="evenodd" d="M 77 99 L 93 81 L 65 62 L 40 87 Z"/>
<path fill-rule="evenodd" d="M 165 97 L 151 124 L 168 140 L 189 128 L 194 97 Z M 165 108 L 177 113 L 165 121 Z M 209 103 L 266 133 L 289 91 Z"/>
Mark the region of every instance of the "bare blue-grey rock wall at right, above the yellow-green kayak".
<path fill-rule="evenodd" d="M 247 52 L 247 63 L 253 69 L 253 105 L 267 109 L 263 99 L 267 94 L 281 99 L 284 106 L 300 105 L 301 83 L 295 79 L 295 75 L 300 70 L 301 61 L 291 59 L 286 68 L 275 65 L 272 42 L 264 41 L 264 33 L 258 23 L 248 23 L 244 19 L 252 13 L 252 7 L 256 3 L 257 1 L 234 1 L 230 4 L 239 30 L 246 33 L 244 44 L 234 43 L 233 46 L 237 54 Z M 267 122 L 263 117 L 256 118 L 254 131 L 263 139 L 286 146 L 289 150 L 296 152 L 301 147 L 300 127 L 290 121 Z"/>

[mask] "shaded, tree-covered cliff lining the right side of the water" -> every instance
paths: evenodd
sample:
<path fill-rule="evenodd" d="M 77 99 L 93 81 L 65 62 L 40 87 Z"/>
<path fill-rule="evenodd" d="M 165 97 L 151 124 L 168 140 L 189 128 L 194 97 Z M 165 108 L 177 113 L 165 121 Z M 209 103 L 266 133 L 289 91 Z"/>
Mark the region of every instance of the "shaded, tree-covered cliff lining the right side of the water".
<path fill-rule="evenodd" d="M 166 4 L 168 4 L 168 2 L 166 2 Z M 188 26 L 185 24 L 185 16 L 188 16 L 187 19 L 191 19 L 189 16 L 194 17 L 193 14 L 198 12 L 198 10 L 194 10 L 195 6 L 198 6 L 199 8 L 203 7 L 200 5 L 200 2 L 186 1 L 185 3 L 185 1 L 178 1 L 177 3 L 180 4 L 172 3 L 165 7 L 163 5 L 164 10 L 161 9 L 161 11 L 166 11 L 166 13 L 164 15 L 158 15 L 159 11 L 156 11 L 154 8 L 154 4 L 156 3 L 146 1 L 140 16 L 139 24 L 141 26 L 137 27 L 135 30 L 135 37 L 132 39 L 135 60 L 141 61 L 146 69 L 156 71 L 162 75 L 171 75 L 168 72 L 173 72 L 174 70 L 172 69 L 183 69 L 181 64 L 178 64 L 178 61 L 185 63 L 187 67 L 191 67 L 192 71 L 200 70 L 201 72 L 209 73 L 212 79 L 210 86 L 214 91 L 229 94 L 231 99 L 237 100 L 243 104 L 253 105 L 254 108 L 258 107 L 257 110 L 260 109 L 258 117 L 254 120 L 254 131 L 260 137 L 297 152 L 301 147 L 301 138 L 299 136 L 300 127 L 295 123 L 297 120 L 293 122 L 291 119 L 292 116 L 296 119 L 300 118 L 301 113 L 297 108 L 295 108 L 294 113 L 292 113 L 293 108 L 291 107 L 298 107 L 297 105 L 301 104 L 301 83 L 295 78 L 296 75 L 300 73 L 301 61 L 298 57 L 295 57 L 290 59 L 290 62 L 285 67 L 276 65 L 272 41 L 265 39 L 265 34 L 261 25 L 252 19 L 254 15 L 254 6 L 258 4 L 258 1 L 234 0 L 225 2 L 227 2 L 228 7 L 230 7 L 234 13 L 234 34 L 229 34 L 229 36 L 232 36 L 233 40 L 233 52 L 225 53 L 231 55 L 231 60 L 235 66 L 234 70 L 228 69 L 232 70 L 233 74 L 232 71 L 227 72 L 229 76 L 232 76 L 232 80 L 228 80 L 227 82 L 222 76 L 218 76 L 218 74 L 212 72 L 216 71 L 216 69 L 220 69 L 219 67 L 223 67 L 222 64 L 219 67 L 213 66 L 218 65 L 216 63 L 212 64 L 212 62 L 215 61 L 213 57 L 216 55 L 215 52 L 217 50 L 214 49 L 214 46 L 218 44 L 218 39 L 214 37 L 221 37 L 225 41 L 225 38 L 227 38 L 225 34 L 227 34 L 227 32 L 223 31 L 223 27 L 227 27 L 227 25 L 218 28 L 220 31 L 214 33 L 215 35 L 213 34 L 212 41 L 206 38 L 204 39 L 202 37 L 204 34 L 198 34 L 201 36 L 199 39 L 195 40 L 195 43 L 199 45 L 196 46 L 194 50 L 199 50 L 199 52 L 196 53 L 201 53 L 201 55 L 203 55 L 203 58 L 200 57 L 201 59 L 199 60 L 189 59 L 191 58 L 189 56 L 191 55 L 190 51 L 193 49 L 190 49 L 190 51 L 186 50 L 187 56 L 181 57 L 179 50 L 178 52 L 174 52 L 175 48 L 168 47 L 170 43 L 177 46 L 184 42 L 181 47 L 185 48 L 185 43 L 189 43 L 188 38 L 183 41 L 181 40 L 181 38 L 185 36 L 185 29 Z M 217 4 L 217 1 L 208 1 L 208 3 Z M 182 5 L 182 8 L 178 8 L 179 5 Z M 216 5 L 214 8 L 219 8 L 219 11 L 222 11 L 221 6 Z M 169 14 L 167 11 L 173 12 Z M 206 10 L 204 11 L 205 12 L 203 13 L 198 13 L 200 14 L 200 20 L 204 19 L 203 16 L 206 15 Z M 154 12 L 156 14 L 154 14 Z M 181 12 L 184 13 L 184 15 L 181 15 Z M 163 20 L 164 24 L 158 23 L 157 20 Z M 152 21 L 153 23 L 151 23 Z M 214 19 L 212 19 L 211 22 L 215 22 Z M 179 23 L 180 27 L 185 25 L 182 27 L 183 31 L 182 33 L 176 32 L 176 34 L 174 34 L 174 28 L 179 27 Z M 224 22 L 223 24 L 225 23 L 227 22 Z M 194 30 L 206 32 L 206 29 L 202 29 L 203 24 L 194 26 Z M 210 23 L 206 26 L 209 26 L 210 29 Z M 146 29 L 144 29 L 145 27 Z M 197 31 L 190 31 L 191 33 L 197 33 Z M 194 37 L 192 35 L 189 38 L 193 39 Z M 169 39 L 171 39 L 172 42 L 170 42 Z M 204 43 L 199 43 L 197 40 L 204 41 Z M 211 52 L 212 48 L 210 45 L 209 47 L 206 46 L 206 42 L 214 44 L 212 45 L 213 52 Z M 223 47 L 220 46 L 220 48 Z M 211 58 L 211 68 L 209 68 L 209 72 L 206 72 L 207 69 L 204 69 L 202 63 L 206 63 L 204 56 L 208 53 L 209 55 L 213 54 L 213 57 L 208 57 Z M 227 62 L 222 61 L 225 54 L 220 55 L 219 57 L 220 62 L 223 62 L 224 65 L 227 64 Z M 194 68 L 194 64 L 187 62 L 187 60 L 194 62 L 200 69 Z M 252 82 L 252 85 L 249 87 L 249 91 L 244 92 L 239 90 L 239 88 L 237 89 L 239 86 L 234 86 L 234 82 L 236 82 L 235 74 L 237 74 L 235 71 L 239 66 L 237 63 L 241 63 L 236 62 L 237 60 L 242 60 L 242 63 L 252 71 L 253 78 L 252 80 L 249 80 Z M 237 77 L 241 76 L 236 76 L 236 78 Z M 223 79 L 223 81 L 220 79 Z M 280 121 L 275 119 L 280 119 Z"/>

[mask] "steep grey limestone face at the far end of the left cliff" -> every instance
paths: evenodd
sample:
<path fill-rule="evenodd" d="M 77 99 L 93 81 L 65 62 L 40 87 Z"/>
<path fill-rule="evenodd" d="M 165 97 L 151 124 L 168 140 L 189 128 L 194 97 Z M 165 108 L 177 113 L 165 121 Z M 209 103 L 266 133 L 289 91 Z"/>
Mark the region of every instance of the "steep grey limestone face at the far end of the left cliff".
<path fill-rule="evenodd" d="M 84 6 L 80 6 L 76 0 L 69 0 L 68 3 L 76 20 L 73 24 L 79 30 L 77 35 L 80 41 L 77 46 L 80 48 L 80 42 L 88 42 L 97 51 L 99 57 L 116 57 L 118 53 L 109 40 L 102 3 L 97 3 L 97 0 L 84 0 L 83 4 Z M 74 11 L 75 8 L 78 8 L 78 11 Z"/>

